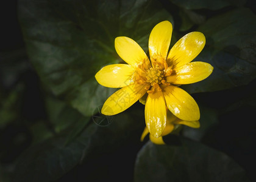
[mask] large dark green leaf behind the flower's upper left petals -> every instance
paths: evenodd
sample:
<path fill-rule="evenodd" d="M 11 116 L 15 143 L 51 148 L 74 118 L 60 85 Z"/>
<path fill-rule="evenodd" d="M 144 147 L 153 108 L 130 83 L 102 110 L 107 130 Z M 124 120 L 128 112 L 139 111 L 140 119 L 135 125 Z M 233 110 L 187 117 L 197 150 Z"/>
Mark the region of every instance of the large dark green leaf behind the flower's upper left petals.
<path fill-rule="evenodd" d="M 42 81 L 85 116 L 113 92 L 96 83 L 94 75 L 121 61 L 113 45 L 116 36 L 129 36 L 145 49 L 154 25 L 172 20 L 160 2 L 150 0 L 25 0 L 19 17 Z"/>

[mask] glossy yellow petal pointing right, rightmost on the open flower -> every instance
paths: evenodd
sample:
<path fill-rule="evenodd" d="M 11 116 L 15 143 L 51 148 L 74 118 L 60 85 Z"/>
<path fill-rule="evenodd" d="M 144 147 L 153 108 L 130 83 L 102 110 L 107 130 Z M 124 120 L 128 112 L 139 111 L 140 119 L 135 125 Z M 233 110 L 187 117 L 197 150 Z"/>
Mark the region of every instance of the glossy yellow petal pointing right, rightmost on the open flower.
<path fill-rule="evenodd" d="M 190 62 L 175 69 L 176 74 L 168 76 L 166 81 L 172 84 L 191 84 L 201 81 L 213 72 L 212 65 L 207 62 Z"/>

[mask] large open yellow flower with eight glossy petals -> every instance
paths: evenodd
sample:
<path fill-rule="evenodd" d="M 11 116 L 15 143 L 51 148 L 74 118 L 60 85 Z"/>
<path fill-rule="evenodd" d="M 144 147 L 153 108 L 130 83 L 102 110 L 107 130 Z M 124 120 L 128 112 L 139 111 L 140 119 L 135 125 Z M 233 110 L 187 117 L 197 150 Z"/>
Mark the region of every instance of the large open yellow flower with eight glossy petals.
<path fill-rule="evenodd" d="M 196 101 L 179 85 L 201 81 L 213 71 L 206 62 L 191 62 L 204 48 L 205 36 L 201 32 L 183 36 L 168 53 L 171 34 L 169 21 L 155 25 L 149 36 L 150 61 L 133 39 L 117 37 L 116 52 L 128 64 L 108 65 L 95 75 L 102 86 L 122 88 L 105 101 L 101 110 L 104 115 L 123 112 L 148 93 L 145 120 L 155 138 L 162 136 L 166 127 L 166 106 L 180 120 L 199 120 Z"/>

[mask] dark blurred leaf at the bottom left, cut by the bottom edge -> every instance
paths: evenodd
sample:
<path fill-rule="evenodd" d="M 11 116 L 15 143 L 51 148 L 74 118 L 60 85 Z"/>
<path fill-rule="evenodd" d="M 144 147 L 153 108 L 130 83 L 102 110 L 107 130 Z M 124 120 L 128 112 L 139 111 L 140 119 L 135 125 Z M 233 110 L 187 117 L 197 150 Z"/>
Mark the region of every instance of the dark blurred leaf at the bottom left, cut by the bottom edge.
<path fill-rule="evenodd" d="M 88 127 L 73 143 L 65 146 L 65 138 L 58 137 L 30 147 L 16 165 L 13 181 L 54 181 L 76 166 L 87 149 L 95 127 Z"/>

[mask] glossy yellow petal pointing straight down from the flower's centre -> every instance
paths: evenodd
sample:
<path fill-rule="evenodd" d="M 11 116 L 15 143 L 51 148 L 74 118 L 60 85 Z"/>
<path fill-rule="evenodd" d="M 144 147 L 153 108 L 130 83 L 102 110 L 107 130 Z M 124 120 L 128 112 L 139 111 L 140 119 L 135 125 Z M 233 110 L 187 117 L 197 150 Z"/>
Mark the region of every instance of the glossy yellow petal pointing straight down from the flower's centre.
<path fill-rule="evenodd" d="M 162 90 L 149 93 L 145 105 L 146 126 L 151 135 L 158 138 L 166 126 L 165 98 Z"/>

